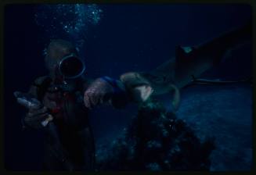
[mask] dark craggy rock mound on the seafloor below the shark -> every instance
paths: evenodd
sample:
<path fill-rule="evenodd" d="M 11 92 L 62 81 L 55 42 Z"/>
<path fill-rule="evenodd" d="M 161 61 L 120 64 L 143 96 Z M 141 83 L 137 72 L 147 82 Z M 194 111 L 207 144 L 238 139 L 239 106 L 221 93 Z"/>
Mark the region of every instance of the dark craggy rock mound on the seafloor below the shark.
<path fill-rule="evenodd" d="M 214 139 L 204 142 L 158 102 L 137 116 L 109 148 L 99 148 L 97 170 L 209 170 Z"/>

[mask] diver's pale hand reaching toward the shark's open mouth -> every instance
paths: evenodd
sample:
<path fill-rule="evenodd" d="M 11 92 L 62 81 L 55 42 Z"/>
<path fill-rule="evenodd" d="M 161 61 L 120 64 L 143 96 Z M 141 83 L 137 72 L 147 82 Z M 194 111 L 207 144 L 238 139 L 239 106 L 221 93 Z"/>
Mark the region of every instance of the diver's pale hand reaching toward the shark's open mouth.
<path fill-rule="evenodd" d="M 92 109 L 96 105 L 103 104 L 114 94 L 114 87 L 111 84 L 98 78 L 85 91 L 84 102 L 88 109 Z"/>

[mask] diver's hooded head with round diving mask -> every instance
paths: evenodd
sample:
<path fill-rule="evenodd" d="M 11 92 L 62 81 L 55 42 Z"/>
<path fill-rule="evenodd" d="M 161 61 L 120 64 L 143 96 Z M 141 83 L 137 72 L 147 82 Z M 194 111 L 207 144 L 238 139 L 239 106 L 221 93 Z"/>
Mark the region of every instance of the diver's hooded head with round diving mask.
<path fill-rule="evenodd" d="M 46 48 L 45 65 L 50 77 L 74 79 L 85 71 L 85 64 L 78 56 L 78 50 L 69 41 L 52 40 Z"/>

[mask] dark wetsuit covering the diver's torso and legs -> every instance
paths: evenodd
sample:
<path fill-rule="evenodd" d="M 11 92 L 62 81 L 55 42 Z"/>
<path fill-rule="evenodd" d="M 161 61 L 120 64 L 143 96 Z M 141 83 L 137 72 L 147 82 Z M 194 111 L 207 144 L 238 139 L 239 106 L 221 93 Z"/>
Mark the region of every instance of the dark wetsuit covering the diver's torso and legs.
<path fill-rule="evenodd" d="M 81 79 L 72 91 L 63 91 L 49 77 L 34 81 L 29 93 L 51 109 L 54 118 L 43 127 L 45 170 L 94 170 L 95 145 L 88 109 L 83 102 L 88 84 L 90 81 Z M 124 101 L 124 96 L 116 95 L 115 99 Z M 54 108 L 52 101 L 56 103 Z"/>

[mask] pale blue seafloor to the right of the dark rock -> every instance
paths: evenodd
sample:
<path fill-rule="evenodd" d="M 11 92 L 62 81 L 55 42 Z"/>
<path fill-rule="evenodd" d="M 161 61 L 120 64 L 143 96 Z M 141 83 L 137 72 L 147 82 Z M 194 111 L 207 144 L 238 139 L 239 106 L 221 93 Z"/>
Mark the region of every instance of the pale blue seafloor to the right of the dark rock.
<path fill-rule="evenodd" d="M 182 91 L 177 116 L 199 137 L 214 136 L 211 170 L 251 170 L 252 87 L 194 86 Z"/>

